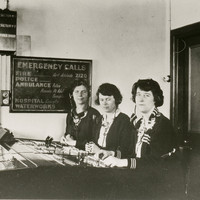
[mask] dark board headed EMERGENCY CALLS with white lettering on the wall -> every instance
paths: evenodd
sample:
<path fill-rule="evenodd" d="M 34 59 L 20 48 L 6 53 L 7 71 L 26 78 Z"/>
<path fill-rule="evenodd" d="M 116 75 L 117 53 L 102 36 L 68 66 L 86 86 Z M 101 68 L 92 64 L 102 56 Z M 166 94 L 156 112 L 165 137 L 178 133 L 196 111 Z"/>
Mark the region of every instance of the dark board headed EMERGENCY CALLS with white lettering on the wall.
<path fill-rule="evenodd" d="M 11 57 L 10 112 L 68 112 L 74 80 L 91 85 L 92 60 Z"/>

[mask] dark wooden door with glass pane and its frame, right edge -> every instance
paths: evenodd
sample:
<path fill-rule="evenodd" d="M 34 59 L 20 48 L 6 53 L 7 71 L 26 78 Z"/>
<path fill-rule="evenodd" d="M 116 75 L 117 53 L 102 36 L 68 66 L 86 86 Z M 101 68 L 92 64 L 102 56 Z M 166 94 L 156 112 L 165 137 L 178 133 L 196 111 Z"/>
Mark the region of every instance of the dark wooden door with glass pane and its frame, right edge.
<path fill-rule="evenodd" d="M 171 119 L 179 142 L 200 146 L 200 23 L 171 32 Z"/>

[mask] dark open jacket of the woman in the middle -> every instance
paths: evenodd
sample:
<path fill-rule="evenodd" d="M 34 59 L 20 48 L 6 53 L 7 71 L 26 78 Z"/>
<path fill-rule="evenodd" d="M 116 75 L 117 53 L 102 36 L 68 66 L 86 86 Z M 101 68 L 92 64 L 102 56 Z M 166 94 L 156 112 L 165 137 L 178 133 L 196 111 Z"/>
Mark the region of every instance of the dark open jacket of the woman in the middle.
<path fill-rule="evenodd" d="M 97 129 L 94 132 L 93 142 L 99 146 L 98 139 L 100 134 L 100 129 L 102 126 L 101 116 L 98 120 Z M 119 115 L 114 119 L 106 137 L 106 147 L 101 147 L 101 149 L 110 150 L 115 152 L 115 156 L 119 153 L 121 158 L 125 158 L 130 155 L 130 144 L 131 144 L 131 134 L 132 125 L 130 123 L 130 118 L 124 114 L 119 113 Z M 119 155 L 118 154 L 118 155 Z"/>

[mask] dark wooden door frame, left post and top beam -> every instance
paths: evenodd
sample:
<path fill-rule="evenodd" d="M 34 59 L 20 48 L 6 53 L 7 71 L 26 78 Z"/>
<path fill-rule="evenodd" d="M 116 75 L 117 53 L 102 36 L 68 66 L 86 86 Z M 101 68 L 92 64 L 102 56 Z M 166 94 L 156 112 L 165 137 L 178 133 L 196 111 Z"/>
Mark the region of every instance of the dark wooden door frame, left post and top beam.
<path fill-rule="evenodd" d="M 170 119 L 179 136 L 179 143 L 189 142 L 188 133 L 188 39 L 200 36 L 200 22 L 171 30 L 170 73 L 171 99 Z"/>

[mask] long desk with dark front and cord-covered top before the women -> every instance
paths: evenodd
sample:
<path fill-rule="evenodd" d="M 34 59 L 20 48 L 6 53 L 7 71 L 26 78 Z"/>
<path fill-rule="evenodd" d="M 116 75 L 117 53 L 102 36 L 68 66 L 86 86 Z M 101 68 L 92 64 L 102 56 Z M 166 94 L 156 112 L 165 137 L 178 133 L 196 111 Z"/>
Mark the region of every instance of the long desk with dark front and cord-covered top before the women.
<path fill-rule="evenodd" d="M 83 151 L 44 144 L 16 139 L 1 145 L 1 199 L 184 199 L 179 162 L 157 169 L 108 168 Z"/>

